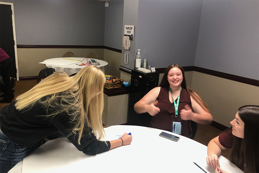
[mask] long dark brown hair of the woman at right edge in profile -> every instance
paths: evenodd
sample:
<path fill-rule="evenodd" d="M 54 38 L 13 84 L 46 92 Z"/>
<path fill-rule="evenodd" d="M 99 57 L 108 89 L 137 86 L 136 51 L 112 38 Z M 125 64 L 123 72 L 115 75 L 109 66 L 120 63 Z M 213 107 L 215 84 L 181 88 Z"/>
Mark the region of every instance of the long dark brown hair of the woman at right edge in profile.
<path fill-rule="evenodd" d="M 230 161 L 241 169 L 245 163 L 245 173 L 259 172 L 259 106 L 246 105 L 237 114 L 245 123 L 244 138 L 235 136 Z"/>

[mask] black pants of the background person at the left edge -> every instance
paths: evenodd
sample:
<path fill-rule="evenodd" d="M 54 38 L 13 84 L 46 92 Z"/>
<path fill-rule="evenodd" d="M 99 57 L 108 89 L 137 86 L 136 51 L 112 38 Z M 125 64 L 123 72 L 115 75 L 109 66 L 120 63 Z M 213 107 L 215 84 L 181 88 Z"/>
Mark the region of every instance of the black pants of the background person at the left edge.
<path fill-rule="evenodd" d="M 0 62 L 0 76 L 3 78 L 4 82 L 4 97 L 0 100 L 0 103 L 11 103 L 14 98 L 14 93 L 12 91 L 12 83 L 10 81 L 10 68 L 12 60 L 11 58 L 5 59 Z"/>

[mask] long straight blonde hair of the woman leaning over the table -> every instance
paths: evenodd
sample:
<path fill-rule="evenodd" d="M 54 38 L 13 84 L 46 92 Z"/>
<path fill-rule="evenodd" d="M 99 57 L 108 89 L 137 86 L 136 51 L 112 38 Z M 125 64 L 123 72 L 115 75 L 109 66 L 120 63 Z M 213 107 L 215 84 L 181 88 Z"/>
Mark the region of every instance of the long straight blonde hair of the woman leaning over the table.
<path fill-rule="evenodd" d="M 46 116 L 54 117 L 66 112 L 73 124 L 72 133 L 78 135 L 78 144 L 87 126 L 92 127 L 94 135 L 100 140 L 105 136 L 102 127 L 104 82 L 104 73 L 95 66 L 84 67 L 72 77 L 64 72 L 56 72 L 18 96 L 15 106 L 22 111 L 39 102 L 47 110 L 56 110 Z M 46 99 L 42 99 L 45 96 Z"/>

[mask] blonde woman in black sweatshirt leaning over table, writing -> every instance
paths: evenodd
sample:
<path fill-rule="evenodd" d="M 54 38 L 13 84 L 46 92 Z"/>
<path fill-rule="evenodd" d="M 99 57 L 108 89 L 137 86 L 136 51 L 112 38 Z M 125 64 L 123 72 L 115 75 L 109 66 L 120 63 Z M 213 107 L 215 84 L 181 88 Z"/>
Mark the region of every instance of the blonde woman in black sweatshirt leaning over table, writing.
<path fill-rule="evenodd" d="M 8 172 L 30 147 L 56 131 L 63 133 L 79 151 L 96 155 L 131 144 L 132 136 L 100 141 L 104 73 L 94 65 L 75 76 L 56 72 L 16 101 L 0 110 L 0 170 Z"/>

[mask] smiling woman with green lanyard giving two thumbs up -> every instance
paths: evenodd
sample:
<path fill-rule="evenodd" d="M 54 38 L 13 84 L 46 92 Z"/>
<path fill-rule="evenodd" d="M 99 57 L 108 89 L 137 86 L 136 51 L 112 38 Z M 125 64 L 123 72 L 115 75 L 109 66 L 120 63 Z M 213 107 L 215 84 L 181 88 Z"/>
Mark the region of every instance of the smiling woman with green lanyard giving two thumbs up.
<path fill-rule="evenodd" d="M 153 128 L 172 132 L 173 123 L 178 124 L 178 129 L 181 130 L 173 132 L 188 138 L 192 136 L 191 121 L 199 124 L 212 123 L 207 105 L 186 84 L 184 70 L 177 64 L 165 69 L 159 87 L 140 99 L 134 105 L 134 110 L 138 114 L 148 112 L 153 116 L 150 123 Z"/>

